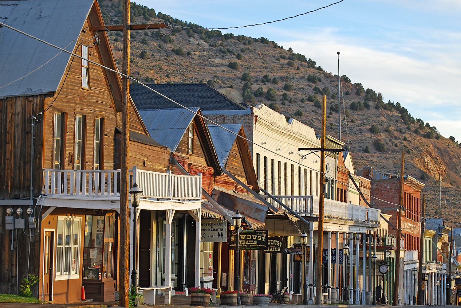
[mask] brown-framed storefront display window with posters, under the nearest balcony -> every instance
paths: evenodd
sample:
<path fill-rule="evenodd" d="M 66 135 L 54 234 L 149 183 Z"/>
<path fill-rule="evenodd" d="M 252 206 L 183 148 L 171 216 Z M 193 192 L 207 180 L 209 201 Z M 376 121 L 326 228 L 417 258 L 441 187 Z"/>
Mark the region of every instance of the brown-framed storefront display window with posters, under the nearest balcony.
<path fill-rule="evenodd" d="M 83 279 L 112 279 L 115 215 L 86 215 Z"/>

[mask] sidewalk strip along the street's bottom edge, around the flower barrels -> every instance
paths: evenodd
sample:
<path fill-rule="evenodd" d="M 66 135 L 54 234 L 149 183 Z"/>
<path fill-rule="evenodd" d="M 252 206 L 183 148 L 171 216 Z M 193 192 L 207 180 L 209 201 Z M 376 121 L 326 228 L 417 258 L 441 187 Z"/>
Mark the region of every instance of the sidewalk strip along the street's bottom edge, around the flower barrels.
<path fill-rule="evenodd" d="M 156 305 L 142 305 L 139 306 L 140 308 L 142 307 L 172 307 L 172 308 L 191 308 L 192 306 L 190 305 L 190 296 L 180 296 L 180 295 L 175 295 L 171 296 L 171 305 L 164 305 L 164 297 L 163 296 L 156 296 L 155 297 L 155 303 Z M 158 303 L 158 304 L 157 304 Z M 118 308 L 117 306 L 118 302 L 76 302 L 76 303 L 71 303 L 71 304 L 51 304 L 51 303 L 44 303 L 44 304 L 30 304 L 30 303 L 18 303 L 18 302 L 0 302 L 0 308 L 96 308 L 96 307 L 112 307 L 112 308 Z M 216 298 L 216 303 L 211 303 L 210 302 L 210 307 L 215 307 L 215 306 L 220 306 L 220 301 L 219 297 Z M 288 303 L 288 304 L 280 304 L 280 303 L 269 303 L 269 306 L 266 306 L 267 308 L 281 308 L 281 307 L 288 307 L 288 308 L 318 308 L 318 307 L 325 307 L 326 305 L 300 305 L 300 304 L 294 304 L 294 303 Z M 388 305 L 383 305 L 383 304 L 378 304 L 376 306 L 358 306 L 358 305 L 335 305 L 335 304 L 328 304 L 327 307 L 331 308 L 336 308 L 336 307 L 350 307 L 350 308 L 355 308 L 355 307 L 382 307 L 382 306 L 388 306 Z M 201 306 L 197 306 L 201 307 Z M 232 306 L 221 306 L 221 307 L 232 307 Z M 243 305 L 238 305 L 238 307 L 241 308 L 261 308 L 262 306 L 243 306 Z"/>

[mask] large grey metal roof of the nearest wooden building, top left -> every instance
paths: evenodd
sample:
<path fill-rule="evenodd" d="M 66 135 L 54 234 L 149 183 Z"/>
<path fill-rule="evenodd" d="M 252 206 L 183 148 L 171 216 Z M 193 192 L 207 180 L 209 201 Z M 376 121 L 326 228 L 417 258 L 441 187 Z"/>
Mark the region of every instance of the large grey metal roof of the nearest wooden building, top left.
<path fill-rule="evenodd" d="M 73 51 L 93 0 L 0 0 L 0 21 L 53 45 Z M 75 41 L 74 41 L 75 40 Z M 57 90 L 71 57 L 6 27 L 0 28 L 0 97 Z M 49 63 L 45 64 L 48 60 Z M 40 69 L 41 65 L 45 64 Z M 24 78 L 17 80 L 20 77 Z"/>

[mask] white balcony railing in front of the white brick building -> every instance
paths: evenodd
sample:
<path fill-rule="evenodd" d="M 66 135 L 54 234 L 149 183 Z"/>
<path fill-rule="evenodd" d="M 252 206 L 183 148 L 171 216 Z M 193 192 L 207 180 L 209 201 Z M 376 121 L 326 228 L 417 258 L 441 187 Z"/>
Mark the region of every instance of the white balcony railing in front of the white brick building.
<path fill-rule="evenodd" d="M 269 203 L 280 208 L 281 206 L 268 196 L 263 196 Z M 319 198 L 314 196 L 274 196 L 287 207 L 305 216 L 319 215 Z M 339 202 L 336 200 L 325 199 L 324 216 L 350 221 L 364 221 L 379 223 L 379 209 L 366 208 L 351 203 Z"/>

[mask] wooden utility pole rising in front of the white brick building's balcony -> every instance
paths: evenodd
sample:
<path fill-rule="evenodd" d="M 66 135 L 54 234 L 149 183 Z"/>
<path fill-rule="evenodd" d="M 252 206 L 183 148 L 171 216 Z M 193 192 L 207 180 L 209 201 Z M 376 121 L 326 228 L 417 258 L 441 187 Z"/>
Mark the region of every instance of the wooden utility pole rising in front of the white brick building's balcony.
<path fill-rule="evenodd" d="M 319 230 L 317 231 L 317 271 L 315 273 L 315 304 L 322 304 L 322 272 L 323 272 L 323 214 L 325 204 L 325 130 L 326 130 L 326 95 L 322 104 L 322 137 L 320 139 L 320 200 L 319 200 Z M 329 252 L 329 254 L 331 251 Z"/>

